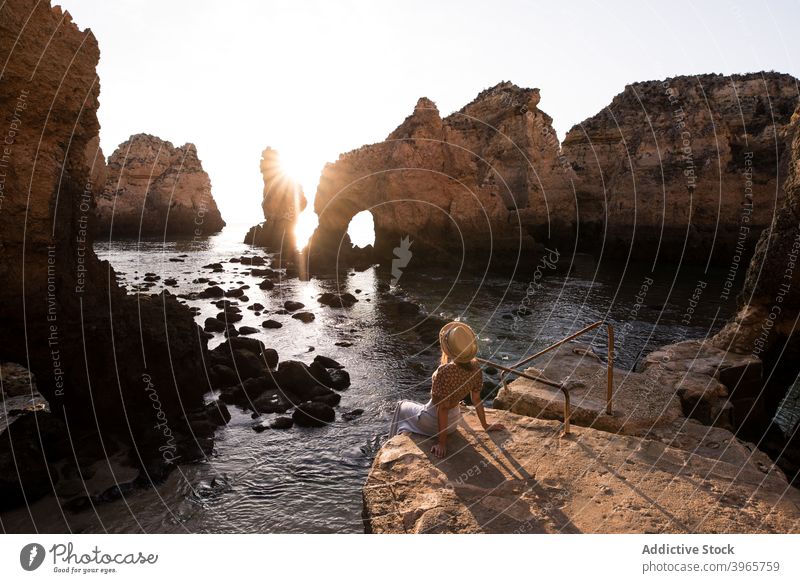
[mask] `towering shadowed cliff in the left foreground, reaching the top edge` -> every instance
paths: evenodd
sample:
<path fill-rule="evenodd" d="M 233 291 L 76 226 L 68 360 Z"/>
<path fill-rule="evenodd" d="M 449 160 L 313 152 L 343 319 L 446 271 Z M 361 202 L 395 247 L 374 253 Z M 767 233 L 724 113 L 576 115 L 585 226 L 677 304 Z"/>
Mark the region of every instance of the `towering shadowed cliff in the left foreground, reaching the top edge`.
<path fill-rule="evenodd" d="M 186 460 L 211 446 L 206 340 L 173 296 L 126 295 L 93 251 L 93 200 L 102 188 L 95 180 L 104 172 L 98 59 L 91 31 L 49 2 L 0 6 L 0 360 L 30 369 L 62 422 L 48 424 L 58 435 L 47 443 L 26 440 L 23 429 L 15 439 L 19 421 L 6 437 L 25 448 L 16 471 L 39 472 L 85 436 L 93 447 L 78 449 L 102 456 L 99 440 L 113 435 L 136 443 L 132 461 L 152 483 L 167 452 Z M 24 483 L 20 476 L 17 485 Z"/>

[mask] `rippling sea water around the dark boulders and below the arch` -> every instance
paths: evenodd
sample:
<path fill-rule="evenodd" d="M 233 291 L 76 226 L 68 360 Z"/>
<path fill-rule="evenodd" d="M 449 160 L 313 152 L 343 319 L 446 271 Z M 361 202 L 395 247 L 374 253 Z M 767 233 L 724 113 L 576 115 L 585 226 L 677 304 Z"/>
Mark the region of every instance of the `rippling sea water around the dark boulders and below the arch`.
<path fill-rule="evenodd" d="M 202 269 L 207 263 L 246 253 L 266 256 L 240 242 L 244 232 L 243 226 L 231 225 L 200 242 L 98 242 L 95 248 L 129 287 L 141 283 L 144 273 L 154 272 L 162 281 L 178 279 L 178 287 L 169 288 L 171 293 L 188 293 L 205 288 L 191 283 L 203 276 L 219 281 L 223 288 L 250 284 L 249 303 L 260 302 L 267 311 L 279 309 L 288 299 L 305 303 L 316 314 L 310 324 L 289 316 L 255 316 L 243 309 L 244 320 L 237 326 L 261 329 L 264 319 L 277 319 L 282 328 L 264 330 L 257 337 L 277 349 L 281 359 L 310 362 L 322 354 L 340 361 L 350 372 L 352 386 L 342 393 L 339 413 L 361 408 L 364 414 L 353 421 L 343 421 L 339 415 L 335 423 L 319 429 L 255 433 L 250 414 L 230 407 L 233 418 L 218 431 L 214 453 L 205 463 L 180 466 L 157 490 L 137 491 L 93 511 L 70 515 L 72 531 L 362 532 L 361 486 L 386 437 L 394 403 L 401 398 L 426 400 L 438 359 L 436 347 L 425 345 L 413 329 L 381 309 L 378 286 L 391 281 L 374 268 L 338 280 L 287 279 L 271 291 L 259 290 L 261 278 L 246 275 L 250 268 L 238 263 L 225 263 L 221 274 Z M 180 257 L 183 262 L 169 261 L 180 255 L 187 255 Z M 720 298 L 725 271 L 665 266 L 653 273 L 649 265 L 598 265 L 587 256 L 563 255 L 552 264 L 541 264 L 527 279 L 509 281 L 459 273 L 457 266 L 427 272 L 423 257 L 412 257 L 411 262 L 414 275 L 410 270 L 401 275 L 393 289 L 405 292 L 430 313 L 470 323 L 479 333 L 481 356 L 498 361 L 514 361 L 586 324 L 609 319 L 617 325 L 617 363 L 631 368 L 641 353 L 653 347 L 712 334 L 735 308 L 733 296 Z M 348 310 L 317 304 L 319 293 L 337 288 L 361 301 Z M 700 301 L 691 311 L 693 296 Z M 201 324 L 219 311 L 209 300 L 188 303 L 200 308 Z M 530 315 L 517 320 L 503 317 L 520 306 L 528 307 Z M 345 340 L 352 346 L 335 345 Z M 586 340 L 605 353 L 602 332 Z M 210 345 L 221 341 L 217 335 Z M 47 499 L 34 504 L 30 512 L 4 515 L 3 525 L 8 531 L 30 531 L 33 519 L 40 532 L 64 532 L 67 527 L 60 517 L 57 502 Z"/>

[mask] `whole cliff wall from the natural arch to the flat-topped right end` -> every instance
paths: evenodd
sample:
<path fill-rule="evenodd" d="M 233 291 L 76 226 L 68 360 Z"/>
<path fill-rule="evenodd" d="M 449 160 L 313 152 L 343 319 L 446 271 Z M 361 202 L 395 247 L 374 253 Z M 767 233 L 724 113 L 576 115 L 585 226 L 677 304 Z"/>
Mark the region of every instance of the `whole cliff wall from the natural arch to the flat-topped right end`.
<path fill-rule="evenodd" d="M 340 253 L 350 219 L 369 210 L 379 260 L 406 236 L 456 261 L 516 264 L 536 244 L 746 260 L 781 204 L 797 83 L 778 73 L 634 83 L 563 144 L 538 89 L 503 82 L 445 118 L 421 98 L 386 140 L 324 168 L 312 254 Z"/>

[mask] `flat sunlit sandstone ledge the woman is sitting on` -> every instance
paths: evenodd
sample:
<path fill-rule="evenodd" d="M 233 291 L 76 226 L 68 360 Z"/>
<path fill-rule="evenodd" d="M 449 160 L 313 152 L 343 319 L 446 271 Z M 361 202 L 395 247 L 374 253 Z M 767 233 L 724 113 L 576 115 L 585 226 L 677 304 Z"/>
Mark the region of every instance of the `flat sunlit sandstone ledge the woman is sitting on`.
<path fill-rule="evenodd" d="M 364 485 L 373 533 L 798 532 L 800 493 L 730 432 L 694 422 L 648 438 L 474 411 L 437 460 L 431 440 L 398 435 Z"/>

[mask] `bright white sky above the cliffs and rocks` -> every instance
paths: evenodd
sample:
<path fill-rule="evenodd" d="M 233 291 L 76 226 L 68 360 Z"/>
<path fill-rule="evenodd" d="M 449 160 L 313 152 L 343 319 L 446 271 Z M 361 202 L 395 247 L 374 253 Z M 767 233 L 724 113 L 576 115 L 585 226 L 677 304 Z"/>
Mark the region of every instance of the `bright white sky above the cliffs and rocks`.
<path fill-rule="evenodd" d="M 789 1 L 61 4 L 100 42 L 106 156 L 139 132 L 194 142 L 229 223 L 261 218 L 265 146 L 308 192 L 326 161 L 386 137 L 423 95 L 445 115 L 502 80 L 539 87 L 563 137 L 633 81 L 800 76 Z"/>

